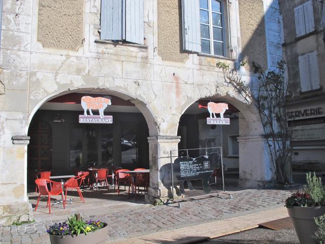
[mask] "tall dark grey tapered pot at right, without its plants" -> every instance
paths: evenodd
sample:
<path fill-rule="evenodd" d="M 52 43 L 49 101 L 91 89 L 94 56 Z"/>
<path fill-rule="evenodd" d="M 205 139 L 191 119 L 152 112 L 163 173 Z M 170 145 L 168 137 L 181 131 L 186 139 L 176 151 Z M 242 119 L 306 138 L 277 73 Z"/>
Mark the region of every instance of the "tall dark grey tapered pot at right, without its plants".
<path fill-rule="evenodd" d="M 290 207 L 288 214 L 293 221 L 301 244 L 316 244 L 313 236 L 317 230 L 315 217 L 325 214 L 325 207 Z"/>

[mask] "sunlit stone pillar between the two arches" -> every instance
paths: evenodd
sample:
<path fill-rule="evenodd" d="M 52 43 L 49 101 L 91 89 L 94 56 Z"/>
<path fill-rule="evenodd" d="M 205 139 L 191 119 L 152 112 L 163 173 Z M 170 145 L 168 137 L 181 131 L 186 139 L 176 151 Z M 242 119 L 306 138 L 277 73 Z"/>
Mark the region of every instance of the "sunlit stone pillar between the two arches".
<path fill-rule="evenodd" d="M 168 197 L 168 189 L 161 182 L 161 177 L 166 174 L 165 168 L 168 170 L 170 167 L 170 151 L 178 149 L 180 136 L 153 136 L 148 137 L 148 142 L 150 186 L 146 195 L 146 201 L 153 203 L 153 200 L 156 198 L 164 199 Z M 176 156 L 177 151 L 173 155 Z M 166 166 L 163 167 L 164 165 Z"/>

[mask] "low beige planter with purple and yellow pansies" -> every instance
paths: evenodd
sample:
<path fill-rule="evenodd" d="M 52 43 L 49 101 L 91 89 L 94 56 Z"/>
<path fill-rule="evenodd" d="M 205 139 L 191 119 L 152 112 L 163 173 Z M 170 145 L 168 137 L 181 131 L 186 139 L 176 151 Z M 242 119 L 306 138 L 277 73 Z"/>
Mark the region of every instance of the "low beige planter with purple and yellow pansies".
<path fill-rule="evenodd" d="M 108 227 L 101 221 L 84 221 L 80 214 L 68 218 L 66 222 L 54 224 L 47 233 L 51 244 L 80 244 L 80 243 L 105 243 Z"/>

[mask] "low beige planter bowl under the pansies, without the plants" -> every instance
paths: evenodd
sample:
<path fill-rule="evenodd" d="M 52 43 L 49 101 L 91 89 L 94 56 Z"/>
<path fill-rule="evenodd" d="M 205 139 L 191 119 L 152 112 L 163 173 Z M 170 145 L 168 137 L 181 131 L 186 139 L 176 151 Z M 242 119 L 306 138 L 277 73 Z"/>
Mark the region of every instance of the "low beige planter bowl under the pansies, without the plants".
<path fill-rule="evenodd" d="M 104 244 L 108 235 L 108 226 L 104 223 L 105 227 L 96 230 L 94 232 L 88 232 L 87 235 L 49 235 L 51 244 L 81 244 L 81 243 L 93 243 L 93 244 Z"/>

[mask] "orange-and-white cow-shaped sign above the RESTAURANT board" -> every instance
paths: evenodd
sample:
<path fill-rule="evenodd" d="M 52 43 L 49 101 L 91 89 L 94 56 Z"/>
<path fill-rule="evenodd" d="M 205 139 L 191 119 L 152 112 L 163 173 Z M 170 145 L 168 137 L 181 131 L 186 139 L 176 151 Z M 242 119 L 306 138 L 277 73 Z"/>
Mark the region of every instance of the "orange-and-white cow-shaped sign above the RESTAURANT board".
<path fill-rule="evenodd" d="M 87 116 L 87 109 L 89 110 L 90 115 L 93 115 L 91 109 L 98 109 L 100 117 L 104 118 L 104 110 L 111 104 L 111 99 L 108 98 L 93 98 L 90 96 L 84 96 L 81 98 L 81 106 L 84 109 L 85 116 Z"/>

